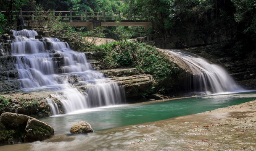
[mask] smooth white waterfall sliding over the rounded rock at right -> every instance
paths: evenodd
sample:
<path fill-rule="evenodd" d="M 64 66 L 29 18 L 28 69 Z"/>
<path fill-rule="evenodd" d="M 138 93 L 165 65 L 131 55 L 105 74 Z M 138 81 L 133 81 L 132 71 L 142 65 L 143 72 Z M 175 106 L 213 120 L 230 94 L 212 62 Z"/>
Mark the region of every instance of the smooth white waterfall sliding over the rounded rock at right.
<path fill-rule="evenodd" d="M 211 64 L 201 57 L 193 57 L 181 51 L 169 50 L 169 52 L 182 58 L 182 61 L 188 65 L 193 74 L 193 80 L 187 80 L 186 84 L 197 93 L 223 94 L 244 91 L 221 66 Z"/>

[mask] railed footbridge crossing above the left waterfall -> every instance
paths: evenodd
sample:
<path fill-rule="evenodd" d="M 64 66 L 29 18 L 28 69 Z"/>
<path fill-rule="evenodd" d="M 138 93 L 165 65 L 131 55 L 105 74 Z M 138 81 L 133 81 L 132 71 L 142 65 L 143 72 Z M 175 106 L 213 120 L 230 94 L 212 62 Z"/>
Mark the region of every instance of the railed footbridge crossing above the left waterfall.
<path fill-rule="evenodd" d="M 20 17 L 24 18 L 24 21 L 28 21 L 29 26 L 37 26 L 36 18 L 47 18 L 49 14 L 53 17 L 60 17 L 65 23 L 69 23 L 69 26 L 74 27 L 87 27 L 87 30 L 92 30 L 98 26 L 144 26 L 144 30 L 147 31 L 152 23 L 147 20 L 143 20 L 142 16 L 124 16 L 122 12 L 87 12 L 87 11 L 54 11 L 53 12 L 40 12 L 37 15 L 37 11 L 20 11 Z"/>

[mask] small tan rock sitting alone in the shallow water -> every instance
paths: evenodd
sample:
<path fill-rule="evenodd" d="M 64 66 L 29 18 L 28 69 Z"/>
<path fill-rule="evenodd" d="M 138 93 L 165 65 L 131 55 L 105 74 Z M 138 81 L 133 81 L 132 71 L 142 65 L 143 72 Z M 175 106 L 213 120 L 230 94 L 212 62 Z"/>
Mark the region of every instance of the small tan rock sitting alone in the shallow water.
<path fill-rule="evenodd" d="M 93 132 L 91 125 L 84 121 L 78 122 L 77 124 L 73 125 L 69 131 L 72 134 L 84 134 Z"/>

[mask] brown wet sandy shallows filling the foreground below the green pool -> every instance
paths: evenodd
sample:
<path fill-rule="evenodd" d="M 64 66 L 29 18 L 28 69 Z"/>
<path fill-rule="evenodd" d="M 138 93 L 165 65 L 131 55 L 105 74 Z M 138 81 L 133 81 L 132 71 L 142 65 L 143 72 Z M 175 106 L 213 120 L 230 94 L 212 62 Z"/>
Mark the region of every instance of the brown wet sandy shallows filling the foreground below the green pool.
<path fill-rule="evenodd" d="M 42 142 L 1 146 L 0 151 L 256 151 L 255 127 L 256 100 L 89 135 L 55 135 Z"/>

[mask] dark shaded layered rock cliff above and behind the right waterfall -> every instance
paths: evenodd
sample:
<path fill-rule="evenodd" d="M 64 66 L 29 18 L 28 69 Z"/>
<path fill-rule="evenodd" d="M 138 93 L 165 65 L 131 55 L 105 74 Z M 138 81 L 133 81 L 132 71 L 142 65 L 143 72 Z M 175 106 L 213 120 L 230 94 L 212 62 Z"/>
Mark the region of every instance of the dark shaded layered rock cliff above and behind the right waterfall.
<path fill-rule="evenodd" d="M 196 27 L 184 29 L 185 36 L 172 34 L 166 37 L 158 35 L 137 38 L 138 42 L 156 46 L 161 49 L 185 48 L 187 52 L 197 54 L 213 63 L 222 65 L 230 75 L 245 89 L 256 89 L 256 52 L 245 51 L 247 54 L 235 56 L 232 45 L 234 35 L 224 29 L 212 34 L 202 34 Z M 225 34 L 223 34 L 225 33 Z M 231 42 L 231 44 L 229 44 Z"/>

